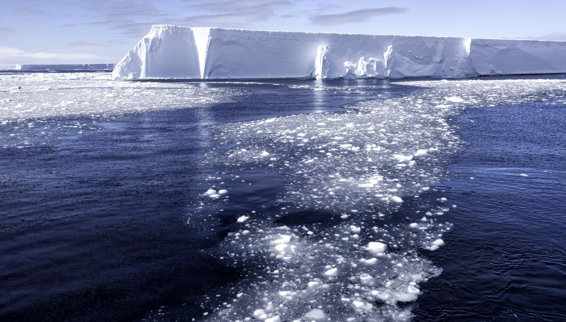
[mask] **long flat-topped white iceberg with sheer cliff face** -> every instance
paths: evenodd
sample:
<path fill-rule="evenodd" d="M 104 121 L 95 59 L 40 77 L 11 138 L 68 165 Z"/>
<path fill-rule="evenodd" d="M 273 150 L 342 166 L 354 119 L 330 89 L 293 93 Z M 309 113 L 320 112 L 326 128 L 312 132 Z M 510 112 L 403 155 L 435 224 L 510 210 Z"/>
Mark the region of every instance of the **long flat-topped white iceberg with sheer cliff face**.
<path fill-rule="evenodd" d="M 566 42 L 157 25 L 113 78 L 403 78 L 566 73 Z"/>

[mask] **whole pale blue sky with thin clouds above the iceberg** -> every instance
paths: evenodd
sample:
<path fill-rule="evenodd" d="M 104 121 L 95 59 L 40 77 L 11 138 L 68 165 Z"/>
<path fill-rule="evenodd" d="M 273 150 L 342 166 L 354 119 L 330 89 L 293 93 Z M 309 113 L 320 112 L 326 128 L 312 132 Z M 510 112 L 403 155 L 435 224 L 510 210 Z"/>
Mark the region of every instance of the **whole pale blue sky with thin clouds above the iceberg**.
<path fill-rule="evenodd" d="M 564 0 L 0 0 L 0 65 L 115 63 L 152 24 L 566 40 Z"/>

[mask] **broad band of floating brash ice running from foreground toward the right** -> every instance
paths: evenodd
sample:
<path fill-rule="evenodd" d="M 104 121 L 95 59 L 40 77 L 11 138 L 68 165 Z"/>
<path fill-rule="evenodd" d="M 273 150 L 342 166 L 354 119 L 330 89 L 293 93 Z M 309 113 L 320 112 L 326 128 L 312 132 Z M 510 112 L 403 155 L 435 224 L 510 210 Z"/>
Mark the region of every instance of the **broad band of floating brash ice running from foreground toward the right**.
<path fill-rule="evenodd" d="M 230 209 L 231 189 L 253 183 L 248 171 L 279 173 L 285 189 L 275 205 L 233 218 L 219 256 L 243 279 L 207 296 L 196 319 L 410 320 L 406 302 L 441 273 L 421 250 L 444 245 L 443 214 L 457 207 L 427 200 L 464 143 L 451 118 L 470 107 L 566 104 L 556 79 L 403 83 L 424 88 L 347 112 L 212 126 L 217 146 L 203 163 L 221 171 L 190 218 Z"/>

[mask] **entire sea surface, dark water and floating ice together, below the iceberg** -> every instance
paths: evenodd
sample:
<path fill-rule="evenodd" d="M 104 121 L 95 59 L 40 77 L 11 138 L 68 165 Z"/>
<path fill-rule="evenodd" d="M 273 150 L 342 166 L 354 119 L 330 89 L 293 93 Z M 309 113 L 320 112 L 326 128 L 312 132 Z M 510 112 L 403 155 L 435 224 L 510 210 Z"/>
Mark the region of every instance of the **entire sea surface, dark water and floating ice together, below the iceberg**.
<path fill-rule="evenodd" d="M 565 298 L 560 291 L 546 291 L 552 297 L 529 308 L 526 298 L 543 291 L 501 286 L 500 296 L 489 296 L 499 271 L 468 273 L 482 270 L 484 261 L 507 265 L 489 251 L 474 252 L 484 249 L 478 243 L 499 240 L 498 247 L 513 246 L 509 256 L 536 258 L 541 252 L 524 252 L 530 245 L 552 249 L 546 262 L 558 272 L 545 272 L 544 281 L 555 281 L 543 282 L 518 269 L 506 281 L 523 272 L 524 284 L 551 290 L 564 278 L 563 257 L 554 252 L 564 246 L 563 204 L 560 193 L 548 192 L 563 191 L 565 182 L 556 175 L 566 154 L 556 143 L 563 142 L 563 123 L 555 118 L 564 120 L 566 108 L 561 75 L 402 82 L 108 78 L 0 74 L 6 196 L 0 252 L 11 259 L 0 283 L 19 294 L 0 297 L 0 316 L 564 317 L 556 306 Z M 67 100 L 75 103 L 59 104 Z M 545 111 L 552 115 L 541 120 Z M 528 131 L 533 126 L 538 130 Z M 528 133 L 527 142 L 519 139 Z M 509 164 L 523 159 L 528 166 Z M 550 170 L 555 176 L 544 172 Z M 555 181 L 539 189 L 539 181 L 527 181 L 538 180 L 535 173 Z M 511 180 L 494 181 L 505 178 Z M 474 193 L 485 191 L 481 200 L 474 200 L 470 182 L 478 185 Z M 501 196 L 507 190 L 519 197 Z M 533 201 L 515 205 L 521 196 Z M 511 203 L 501 211 L 516 213 L 493 217 L 501 200 Z M 535 209 L 543 213 L 541 230 L 560 227 L 549 233 L 554 239 L 516 240 L 531 226 L 521 215 Z"/>

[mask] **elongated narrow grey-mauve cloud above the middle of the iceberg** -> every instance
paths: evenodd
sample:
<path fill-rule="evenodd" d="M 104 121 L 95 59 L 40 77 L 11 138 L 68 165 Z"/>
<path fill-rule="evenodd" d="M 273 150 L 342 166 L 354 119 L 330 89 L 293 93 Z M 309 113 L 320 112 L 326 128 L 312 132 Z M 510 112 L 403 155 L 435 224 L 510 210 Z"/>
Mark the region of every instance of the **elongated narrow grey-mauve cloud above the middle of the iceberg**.
<path fill-rule="evenodd" d="M 375 16 L 404 14 L 407 11 L 408 9 L 406 8 L 385 7 L 385 8 L 354 10 L 354 11 L 344 12 L 343 14 L 314 15 L 311 16 L 309 19 L 311 20 L 312 23 L 318 24 L 319 26 L 336 26 L 338 24 L 366 22 L 368 19 L 373 18 Z"/>

